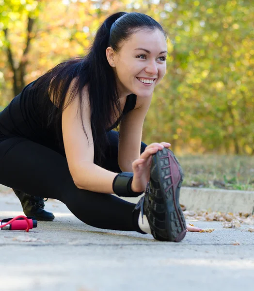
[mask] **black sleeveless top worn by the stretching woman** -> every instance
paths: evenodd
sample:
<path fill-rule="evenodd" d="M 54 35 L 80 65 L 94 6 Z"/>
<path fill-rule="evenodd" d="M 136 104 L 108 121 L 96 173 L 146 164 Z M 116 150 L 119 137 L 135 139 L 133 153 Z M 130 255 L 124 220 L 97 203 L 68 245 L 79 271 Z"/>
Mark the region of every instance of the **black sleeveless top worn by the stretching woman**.
<path fill-rule="evenodd" d="M 55 106 L 49 96 L 47 108 L 42 106 L 43 94 L 36 88 L 31 88 L 33 81 L 24 87 L 10 104 L 0 112 L 0 140 L 6 137 L 25 137 L 41 145 L 47 146 L 53 150 L 64 153 L 62 121 L 58 124 L 56 131 L 55 124 L 47 126 L 48 110 Z M 134 109 L 136 105 L 135 94 L 127 96 L 122 114 L 118 120 L 107 131 L 116 128 L 123 115 Z M 43 110 L 44 109 L 44 110 Z"/>

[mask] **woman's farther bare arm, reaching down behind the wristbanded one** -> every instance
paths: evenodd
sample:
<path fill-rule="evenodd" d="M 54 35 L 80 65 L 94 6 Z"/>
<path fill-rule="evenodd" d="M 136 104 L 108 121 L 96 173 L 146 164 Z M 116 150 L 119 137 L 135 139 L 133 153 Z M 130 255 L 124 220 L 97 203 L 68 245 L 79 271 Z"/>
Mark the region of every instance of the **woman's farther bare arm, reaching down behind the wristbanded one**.
<path fill-rule="evenodd" d="M 143 122 L 151 100 L 152 95 L 148 98 L 137 97 L 135 108 L 121 120 L 118 164 L 123 172 L 132 172 L 132 162 L 140 158 Z"/>

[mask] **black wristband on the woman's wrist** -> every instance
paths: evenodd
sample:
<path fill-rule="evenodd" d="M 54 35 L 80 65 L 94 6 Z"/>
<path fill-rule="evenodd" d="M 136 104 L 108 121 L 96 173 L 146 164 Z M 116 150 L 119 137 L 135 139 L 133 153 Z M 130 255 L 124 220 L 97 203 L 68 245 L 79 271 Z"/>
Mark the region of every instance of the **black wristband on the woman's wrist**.
<path fill-rule="evenodd" d="M 133 173 L 122 172 L 115 176 L 113 180 L 113 191 L 116 195 L 122 197 L 138 197 L 143 194 L 142 192 L 134 192 L 131 190 L 131 182 L 133 179 Z"/>

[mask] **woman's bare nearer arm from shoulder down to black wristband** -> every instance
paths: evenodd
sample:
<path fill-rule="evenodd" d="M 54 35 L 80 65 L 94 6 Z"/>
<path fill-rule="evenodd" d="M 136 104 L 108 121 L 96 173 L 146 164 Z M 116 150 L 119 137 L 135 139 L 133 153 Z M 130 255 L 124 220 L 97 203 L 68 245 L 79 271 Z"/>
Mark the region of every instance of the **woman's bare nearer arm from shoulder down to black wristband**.
<path fill-rule="evenodd" d="M 64 106 L 69 100 L 69 92 L 73 87 L 73 82 L 66 94 Z M 80 189 L 99 193 L 113 193 L 112 183 L 117 173 L 94 164 L 94 143 L 87 86 L 83 90 L 83 101 L 83 124 L 88 140 L 78 113 L 78 97 L 75 97 L 62 114 L 63 144 L 70 174 L 75 185 Z"/>

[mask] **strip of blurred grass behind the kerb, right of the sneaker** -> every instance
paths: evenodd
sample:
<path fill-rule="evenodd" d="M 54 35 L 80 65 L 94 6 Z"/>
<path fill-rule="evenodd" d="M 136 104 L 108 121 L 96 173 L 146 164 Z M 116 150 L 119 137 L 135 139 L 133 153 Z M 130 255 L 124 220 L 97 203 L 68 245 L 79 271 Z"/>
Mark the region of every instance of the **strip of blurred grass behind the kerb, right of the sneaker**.
<path fill-rule="evenodd" d="M 183 186 L 254 191 L 254 157 L 197 155 L 177 157 Z"/>

